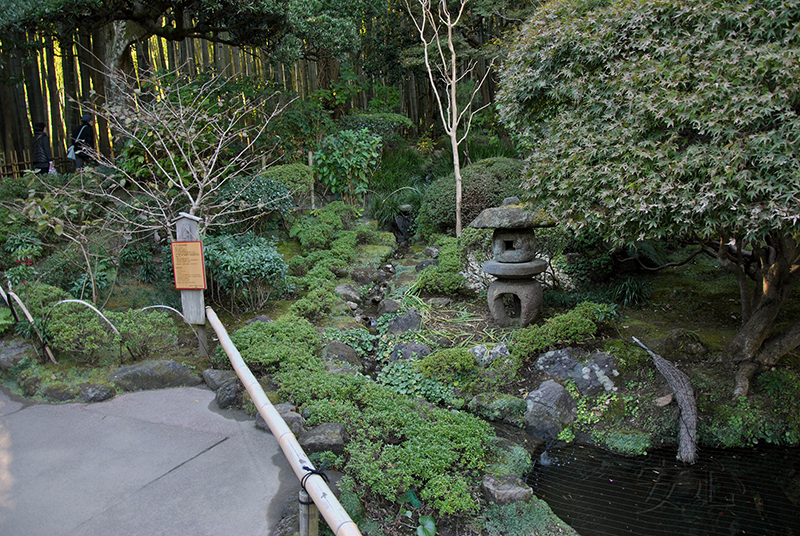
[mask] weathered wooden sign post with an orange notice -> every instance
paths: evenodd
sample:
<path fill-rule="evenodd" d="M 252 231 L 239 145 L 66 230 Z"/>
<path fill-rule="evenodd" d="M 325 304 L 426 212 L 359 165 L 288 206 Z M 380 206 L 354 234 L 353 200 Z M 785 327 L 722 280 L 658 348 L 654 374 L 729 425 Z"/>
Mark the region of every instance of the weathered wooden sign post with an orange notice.
<path fill-rule="evenodd" d="M 175 220 L 175 240 L 172 242 L 172 268 L 175 288 L 181 291 L 183 317 L 197 330 L 200 355 L 208 357 L 206 307 L 203 291 L 206 288 L 206 267 L 203 243 L 200 241 L 200 218 L 185 212 Z"/>

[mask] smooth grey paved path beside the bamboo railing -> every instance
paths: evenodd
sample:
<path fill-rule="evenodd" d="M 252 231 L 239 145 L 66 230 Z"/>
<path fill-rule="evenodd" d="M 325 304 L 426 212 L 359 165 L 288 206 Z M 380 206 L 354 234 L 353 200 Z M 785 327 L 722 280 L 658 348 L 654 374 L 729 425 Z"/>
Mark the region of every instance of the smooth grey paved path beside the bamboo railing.
<path fill-rule="evenodd" d="M 5 536 L 265 536 L 298 489 L 272 434 L 206 388 L 58 405 L 0 391 Z"/>

